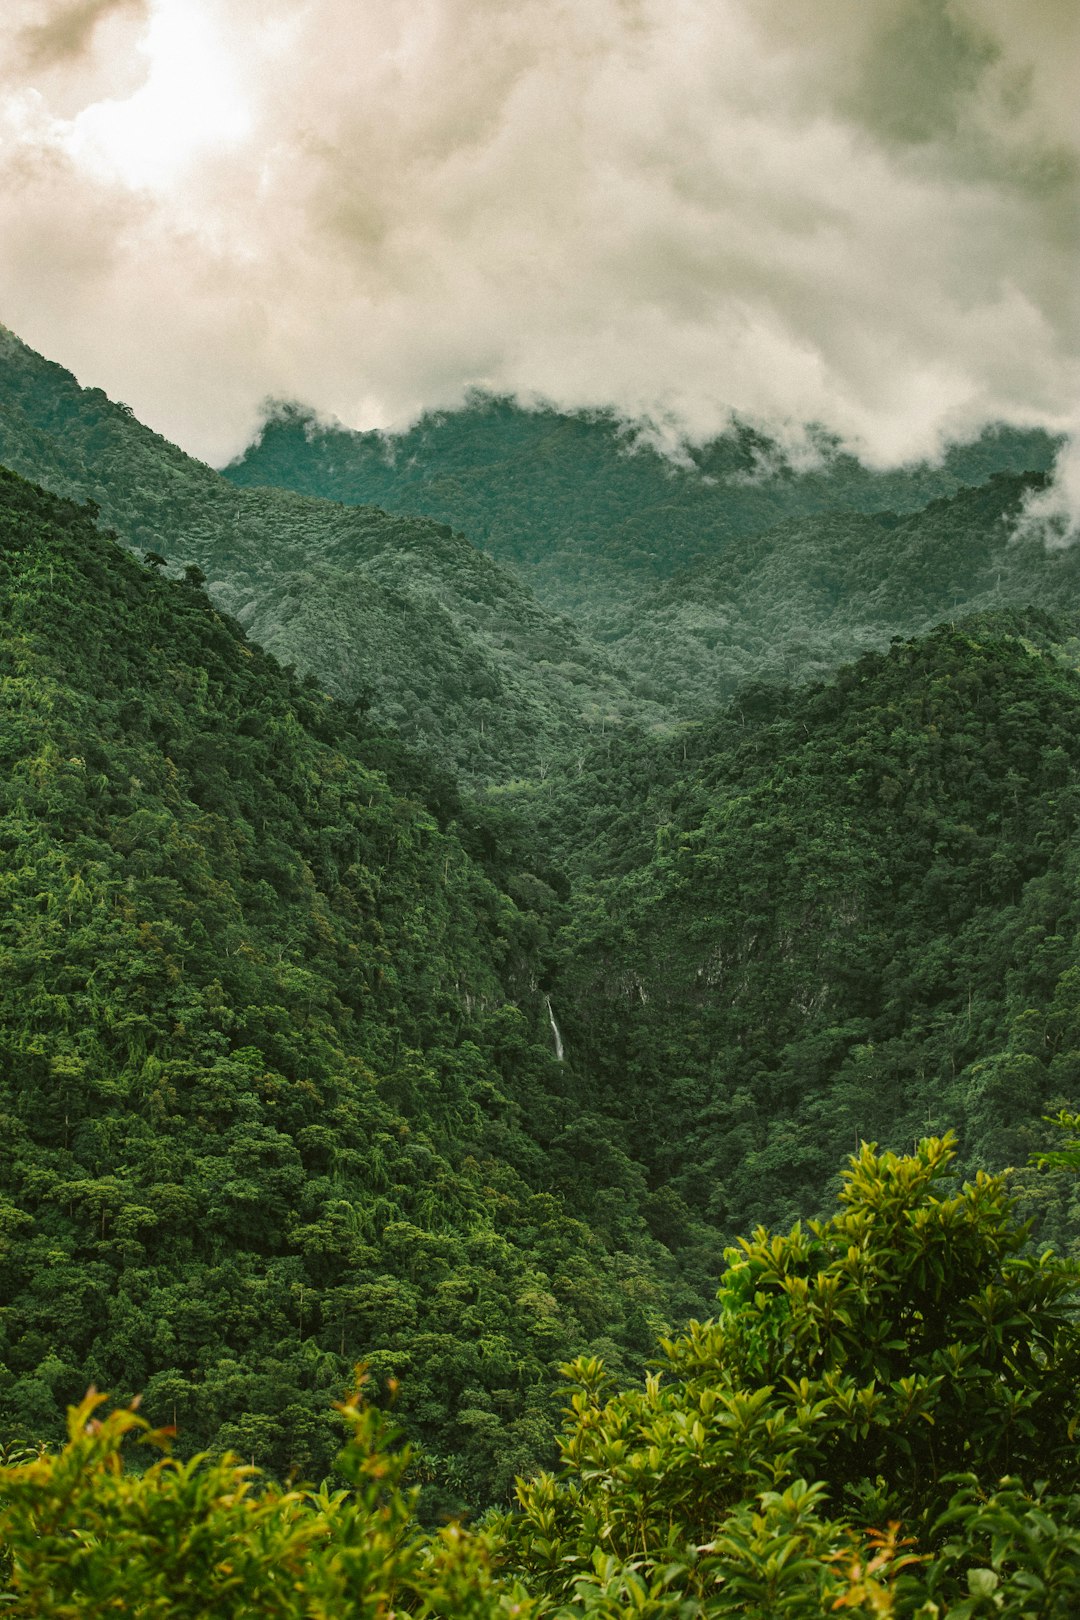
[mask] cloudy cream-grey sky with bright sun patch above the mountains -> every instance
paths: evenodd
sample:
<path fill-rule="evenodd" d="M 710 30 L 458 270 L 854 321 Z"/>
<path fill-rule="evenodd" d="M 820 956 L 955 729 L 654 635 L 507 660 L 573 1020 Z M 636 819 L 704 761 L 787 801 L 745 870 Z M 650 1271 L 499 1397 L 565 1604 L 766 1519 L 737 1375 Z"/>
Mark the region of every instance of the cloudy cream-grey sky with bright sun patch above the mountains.
<path fill-rule="evenodd" d="M 0 321 L 215 465 L 470 387 L 1074 436 L 1077 0 L 5 0 Z"/>

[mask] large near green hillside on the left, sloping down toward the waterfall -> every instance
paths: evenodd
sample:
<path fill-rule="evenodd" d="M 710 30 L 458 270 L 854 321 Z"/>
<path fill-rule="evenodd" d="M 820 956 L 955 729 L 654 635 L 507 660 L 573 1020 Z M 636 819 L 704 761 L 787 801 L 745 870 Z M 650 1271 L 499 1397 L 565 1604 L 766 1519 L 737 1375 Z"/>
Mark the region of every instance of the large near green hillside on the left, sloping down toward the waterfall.
<path fill-rule="evenodd" d="M 554 891 L 86 509 L 0 473 L 0 525 L 5 1430 L 97 1382 L 317 1474 L 369 1356 L 426 1477 L 505 1492 L 567 1348 L 699 1298 L 552 1055 Z"/>

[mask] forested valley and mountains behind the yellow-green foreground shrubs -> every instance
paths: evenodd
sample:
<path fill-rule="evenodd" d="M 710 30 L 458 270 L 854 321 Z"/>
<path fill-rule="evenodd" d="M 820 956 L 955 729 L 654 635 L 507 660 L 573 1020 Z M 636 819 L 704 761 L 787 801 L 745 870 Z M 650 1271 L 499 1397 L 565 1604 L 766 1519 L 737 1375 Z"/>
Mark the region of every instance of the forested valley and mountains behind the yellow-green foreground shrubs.
<path fill-rule="evenodd" d="M 1051 450 L 795 476 L 476 402 L 393 454 L 280 413 L 220 475 L 5 332 L 8 1443 L 96 1385 L 181 1458 L 340 1481 L 363 1364 L 421 1520 L 523 1476 L 499 1557 L 568 1601 L 559 1367 L 615 1524 L 653 1421 L 615 1387 L 657 1340 L 680 1411 L 733 1377 L 774 1285 L 737 1307 L 730 1244 L 848 1155 L 870 1199 L 1009 1166 L 994 1254 L 1075 1259 L 1036 1160 L 1080 1087 L 1080 577 L 1012 538 Z"/>

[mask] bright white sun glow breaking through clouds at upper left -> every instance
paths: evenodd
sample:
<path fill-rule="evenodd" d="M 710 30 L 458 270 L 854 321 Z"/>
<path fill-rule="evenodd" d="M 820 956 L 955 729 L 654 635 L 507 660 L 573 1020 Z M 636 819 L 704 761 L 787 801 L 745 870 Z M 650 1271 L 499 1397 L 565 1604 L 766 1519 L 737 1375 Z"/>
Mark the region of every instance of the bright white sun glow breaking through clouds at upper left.
<path fill-rule="evenodd" d="M 86 107 L 63 144 L 87 168 L 160 190 L 215 146 L 243 139 L 249 115 L 236 73 L 198 0 L 154 0 L 139 47 L 149 71 L 125 100 Z"/>

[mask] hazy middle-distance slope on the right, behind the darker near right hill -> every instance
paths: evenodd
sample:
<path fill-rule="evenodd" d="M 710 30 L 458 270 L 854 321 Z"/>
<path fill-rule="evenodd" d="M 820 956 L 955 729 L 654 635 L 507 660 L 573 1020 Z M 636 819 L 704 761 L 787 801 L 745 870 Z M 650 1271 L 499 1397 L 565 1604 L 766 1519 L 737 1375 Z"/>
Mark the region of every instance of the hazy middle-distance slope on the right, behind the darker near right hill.
<path fill-rule="evenodd" d="M 1017 525 L 1041 473 L 996 473 L 920 512 L 831 512 L 733 539 L 612 637 L 641 692 L 708 716 L 753 680 L 821 680 L 894 635 L 999 608 L 1080 609 L 1080 548 Z"/>

